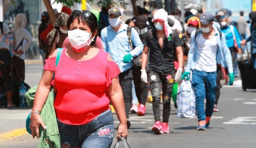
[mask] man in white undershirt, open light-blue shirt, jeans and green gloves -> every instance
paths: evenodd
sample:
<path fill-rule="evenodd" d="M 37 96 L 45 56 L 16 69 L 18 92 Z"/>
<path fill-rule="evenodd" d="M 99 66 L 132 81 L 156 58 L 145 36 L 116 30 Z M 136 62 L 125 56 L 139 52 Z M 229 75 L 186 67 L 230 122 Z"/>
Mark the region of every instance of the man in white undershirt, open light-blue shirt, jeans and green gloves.
<path fill-rule="evenodd" d="M 188 64 L 182 79 L 189 80 L 192 70 L 192 86 L 196 93 L 196 108 L 198 117 L 197 130 L 206 130 L 210 124 L 214 101 L 217 64 L 222 67 L 228 66 L 230 81 L 234 81 L 234 71 L 230 50 L 226 44 L 225 35 L 213 27 L 214 16 L 206 12 L 200 18 L 201 28 L 199 32 L 194 30 L 191 33 L 191 45 L 188 53 Z M 197 34 L 196 34 L 197 32 Z M 204 99 L 206 98 L 206 111 L 204 112 Z"/>

